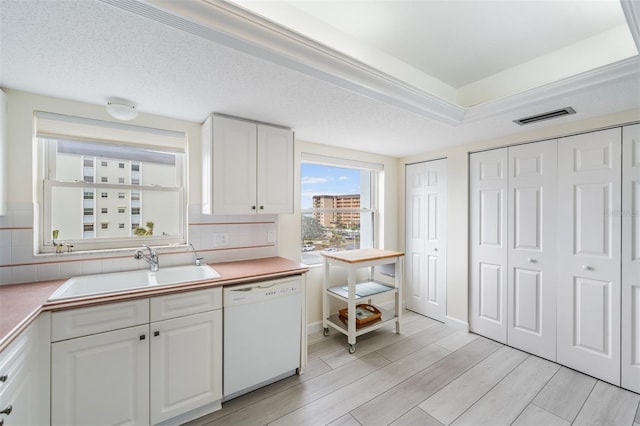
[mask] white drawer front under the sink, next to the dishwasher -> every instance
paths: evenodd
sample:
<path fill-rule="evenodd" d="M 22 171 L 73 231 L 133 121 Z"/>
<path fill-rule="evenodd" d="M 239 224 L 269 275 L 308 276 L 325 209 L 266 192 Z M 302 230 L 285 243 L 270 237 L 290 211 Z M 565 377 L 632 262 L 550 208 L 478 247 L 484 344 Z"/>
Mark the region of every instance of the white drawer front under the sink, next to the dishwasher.
<path fill-rule="evenodd" d="M 222 287 L 152 297 L 151 322 L 222 308 Z"/>

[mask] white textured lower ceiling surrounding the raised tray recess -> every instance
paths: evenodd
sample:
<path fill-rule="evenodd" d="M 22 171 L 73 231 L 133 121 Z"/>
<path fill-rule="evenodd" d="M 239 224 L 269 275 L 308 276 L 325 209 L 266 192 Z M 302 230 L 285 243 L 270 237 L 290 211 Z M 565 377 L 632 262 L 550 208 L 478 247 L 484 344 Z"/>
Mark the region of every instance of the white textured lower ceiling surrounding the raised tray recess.
<path fill-rule="evenodd" d="M 102 105 L 120 96 L 143 113 L 194 122 L 237 115 L 290 126 L 299 139 L 396 157 L 521 132 L 513 119 L 553 108 L 573 106 L 578 114 L 561 119 L 571 121 L 640 107 L 640 74 L 624 72 L 463 109 L 451 125 L 363 95 L 345 79 L 272 61 L 259 42 L 236 49 L 119 2 L 0 0 L 0 86 Z M 637 68 L 637 58 L 625 67 Z"/>

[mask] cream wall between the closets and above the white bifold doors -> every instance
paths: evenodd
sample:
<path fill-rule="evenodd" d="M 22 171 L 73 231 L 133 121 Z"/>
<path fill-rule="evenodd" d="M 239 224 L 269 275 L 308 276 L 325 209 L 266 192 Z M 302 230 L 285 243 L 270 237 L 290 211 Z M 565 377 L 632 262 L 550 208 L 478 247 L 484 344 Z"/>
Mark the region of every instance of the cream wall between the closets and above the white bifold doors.
<path fill-rule="evenodd" d="M 447 150 L 426 152 L 421 155 L 402 158 L 398 170 L 401 206 L 400 217 L 404 217 L 404 169 L 405 165 L 419 161 L 447 158 L 447 317 L 468 323 L 468 200 L 469 200 L 469 153 L 500 146 L 533 142 L 544 139 L 582 133 L 604 127 L 617 126 L 640 120 L 640 110 L 597 117 L 589 120 L 560 124 L 554 127 L 536 129 L 526 133 L 506 136 L 500 139 L 478 141 L 477 143 L 453 147 Z M 428 139 L 428 138 L 426 138 Z M 398 235 L 400 246 L 404 247 L 404 220 L 399 220 Z"/>

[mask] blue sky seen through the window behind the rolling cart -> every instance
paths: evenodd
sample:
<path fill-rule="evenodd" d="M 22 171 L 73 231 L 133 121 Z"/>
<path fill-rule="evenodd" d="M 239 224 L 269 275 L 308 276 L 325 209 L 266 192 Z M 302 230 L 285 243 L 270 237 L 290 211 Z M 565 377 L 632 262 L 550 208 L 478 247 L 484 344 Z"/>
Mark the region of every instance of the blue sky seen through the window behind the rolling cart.
<path fill-rule="evenodd" d="M 310 209 L 313 195 L 360 193 L 360 170 L 302 163 L 302 208 Z"/>

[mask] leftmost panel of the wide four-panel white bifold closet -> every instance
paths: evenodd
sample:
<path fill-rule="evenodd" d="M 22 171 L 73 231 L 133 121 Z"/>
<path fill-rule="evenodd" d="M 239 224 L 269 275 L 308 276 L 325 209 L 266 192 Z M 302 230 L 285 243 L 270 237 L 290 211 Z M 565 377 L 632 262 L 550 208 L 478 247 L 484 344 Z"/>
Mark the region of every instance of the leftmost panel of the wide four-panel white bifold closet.
<path fill-rule="evenodd" d="M 469 156 L 469 326 L 507 342 L 507 148 Z"/>

